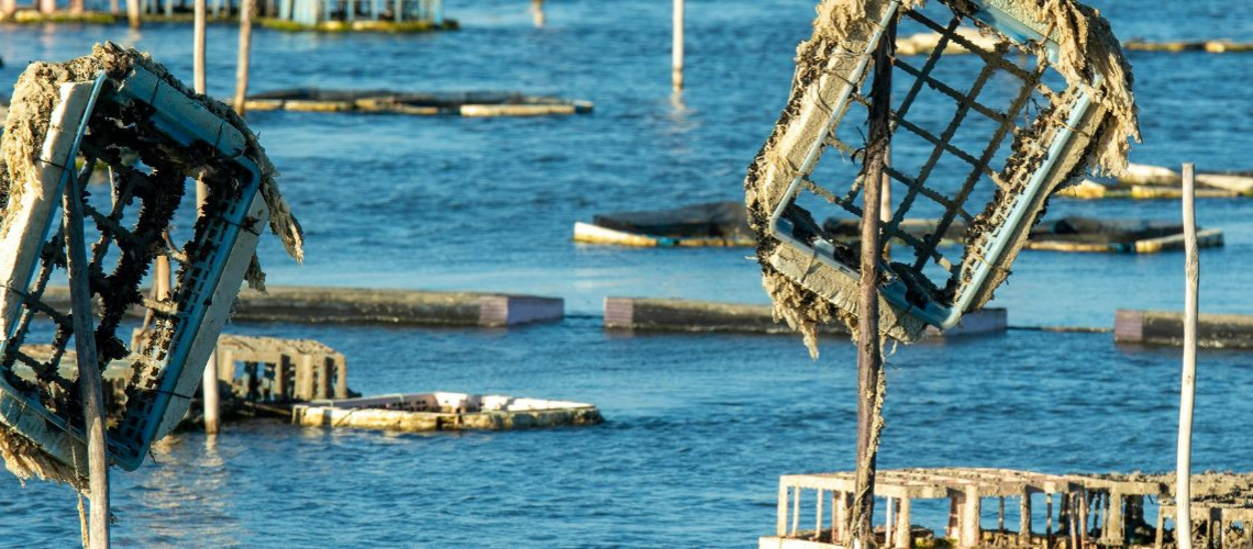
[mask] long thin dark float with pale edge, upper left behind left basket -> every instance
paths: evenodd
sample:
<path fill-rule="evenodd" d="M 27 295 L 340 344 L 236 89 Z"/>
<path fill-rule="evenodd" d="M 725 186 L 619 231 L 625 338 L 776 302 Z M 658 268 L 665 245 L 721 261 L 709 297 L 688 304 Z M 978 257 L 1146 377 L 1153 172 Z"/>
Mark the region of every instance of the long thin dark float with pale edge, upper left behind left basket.
<path fill-rule="evenodd" d="M 387 90 L 321 90 L 301 88 L 257 94 L 247 110 L 297 110 L 309 113 L 388 113 L 420 116 L 544 116 L 591 113 L 590 101 L 574 101 L 517 93 L 470 91 L 408 94 Z"/>

